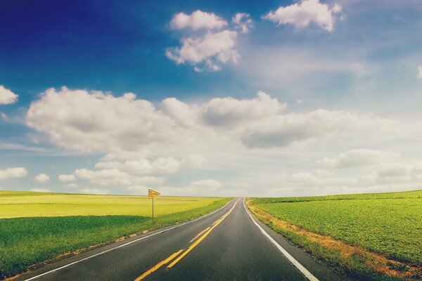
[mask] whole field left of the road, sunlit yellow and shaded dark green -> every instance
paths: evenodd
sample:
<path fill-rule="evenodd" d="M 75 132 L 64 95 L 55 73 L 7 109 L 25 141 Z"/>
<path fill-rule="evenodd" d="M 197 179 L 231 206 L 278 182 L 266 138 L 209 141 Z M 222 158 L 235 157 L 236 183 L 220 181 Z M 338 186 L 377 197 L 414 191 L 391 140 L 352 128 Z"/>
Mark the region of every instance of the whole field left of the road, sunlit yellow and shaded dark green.
<path fill-rule="evenodd" d="M 0 279 L 68 251 L 168 226 L 222 207 L 229 198 L 72 195 L 0 191 Z"/>

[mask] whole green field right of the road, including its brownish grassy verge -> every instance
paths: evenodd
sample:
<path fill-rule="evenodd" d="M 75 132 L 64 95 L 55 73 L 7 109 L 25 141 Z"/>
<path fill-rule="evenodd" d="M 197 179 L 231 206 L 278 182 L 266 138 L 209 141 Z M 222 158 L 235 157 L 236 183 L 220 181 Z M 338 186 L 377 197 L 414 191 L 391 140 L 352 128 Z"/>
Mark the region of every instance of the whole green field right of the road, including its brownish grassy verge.
<path fill-rule="evenodd" d="M 422 279 L 422 190 L 252 198 L 268 226 L 357 280 Z"/>

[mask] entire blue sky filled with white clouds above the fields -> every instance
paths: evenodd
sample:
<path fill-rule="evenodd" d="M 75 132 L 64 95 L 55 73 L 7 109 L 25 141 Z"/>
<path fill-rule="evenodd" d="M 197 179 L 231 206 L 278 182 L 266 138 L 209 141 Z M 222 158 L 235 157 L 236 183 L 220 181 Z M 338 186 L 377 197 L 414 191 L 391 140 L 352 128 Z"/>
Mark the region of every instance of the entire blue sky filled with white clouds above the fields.
<path fill-rule="evenodd" d="M 0 1 L 0 189 L 422 183 L 418 0 Z"/>

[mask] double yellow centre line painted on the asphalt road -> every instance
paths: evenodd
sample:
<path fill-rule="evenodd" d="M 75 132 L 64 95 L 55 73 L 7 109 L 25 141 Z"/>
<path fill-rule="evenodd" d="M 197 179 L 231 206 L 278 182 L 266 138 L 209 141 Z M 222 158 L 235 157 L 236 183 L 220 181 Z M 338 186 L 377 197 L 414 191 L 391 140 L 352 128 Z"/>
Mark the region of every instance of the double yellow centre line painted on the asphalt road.
<path fill-rule="evenodd" d="M 177 257 L 177 259 L 175 259 L 172 263 L 170 263 L 167 266 L 167 268 L 172 268 L 176 263 L 178 263 L 181 259 L 183 259 L 184 256 L 186 256 L 187 254 L 189 254 L 190 251 L 192 251 L 196 246 L 198 246 L 198 244 L 200 242 L 202 242 L 205 239 L 205 237 L 207 237 L 214 228 L 216 228 L 220 223 L 222 223 L 222 221 L 224 220 L 224 218 L 226 218 L 227 216 L 229 216 L 229 214 L 231 213 L 231 211 L 233 211 L 234 207 L 236 207 L 237 202 L 238 202 L 238 200 L 234 203 L 233 207 L 231 207 L 231 209 L 226 214 L 224 214 L 221 218 L 217 219 L 217 221 L 215 221 L 214 223 L 212 223 L 212 226 L 209 226 L 209 227 L 205 228 L 200 233 L 198 233 L 198 235 L 196 235 L 195 237 L 193 237 L 193 239 L 191 241 L 189 241 L 189 242 L 193 242 L 198 237 L 199 238 L 193 244 L 191 244 L 191 246 L 189 246 L 188 249 L 186 249 L 186 251 L 184 251 L 184 249 L 181 249 L 181 250 L 175 252 L 174 254 L 170 255 L 167 259 L 165 259 L 163 261 L 160 261 L 155 266 L 153 266 L 153 268 L 149 269 L 148 271 L 146 271 L 145 273 L 143 273 L 141 276 L 139 276 L 138 278 L 136 278 L 135 281 L 143 280 L 143 278 L 145 278 L 146 276 L 150 275 L 155 270 L 158 270 L 158 268 L 160 268 L 161 266 L 164 266 L 165 264 L 170 263 L 170 261 L 172 261 L 175 257 L 179 256 L 179 254 L 184 251 L 179 257 Z"/>

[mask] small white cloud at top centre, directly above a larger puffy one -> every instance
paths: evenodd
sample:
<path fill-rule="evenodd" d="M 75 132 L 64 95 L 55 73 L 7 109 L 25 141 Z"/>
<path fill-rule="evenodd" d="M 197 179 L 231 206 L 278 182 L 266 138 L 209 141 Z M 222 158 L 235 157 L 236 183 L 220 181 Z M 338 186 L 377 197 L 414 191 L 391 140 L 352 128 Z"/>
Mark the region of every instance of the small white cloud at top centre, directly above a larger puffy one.
<path fill-rule="evenodd" d="M 219 29 L 227 25 L 226 20 L 215 15 L 215 13 L 206 13 L 203 11 L 195 11 L 191 15 L 186 13 L 177 13 L 173 16 L 170 22 L 170 27 L 173 30 L 181 30 L 184 28 L 191 28 L 192 30 L 199 30 L 204 28 L 207 30 Z"/>

